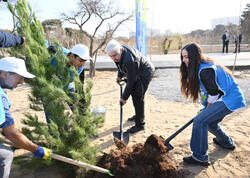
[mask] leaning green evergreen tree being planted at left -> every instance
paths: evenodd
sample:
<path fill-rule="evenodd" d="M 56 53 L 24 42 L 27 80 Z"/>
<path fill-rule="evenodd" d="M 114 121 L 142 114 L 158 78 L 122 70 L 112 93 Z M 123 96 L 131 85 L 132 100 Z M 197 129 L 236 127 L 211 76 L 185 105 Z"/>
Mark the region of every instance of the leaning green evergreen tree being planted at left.
<path fill-rule="evenodd" d="M 38 145 L 48 147 L 53 152 L 75 160 L 95 164 L 97 147 L 91 146 L 90 136 L 97 134 L 98 124 L 102 117 L 94 118 L 90 111 L 92 83 L 87 82 L 85 88 L 79 80 L 74 67 L 68 67 L 68 58 L 57 44 L 57 53 L 51 56 L 45 45 L 43 27 L 32 12 L 31 6 L 25 0 L 19 0 L 15 7 L 8 4 L 9 10 L 18 20 L 17 31 L 25 37 L 26 47 L 11 49 L 12 56 L 24 58 L 28 70 L 36 75 L 34 79 L 26 80 L 32 88 L 30 108 L 43 110 L 43 105 L 50 114 L 51 124 L 40 122 L 38 116 L 26 113 L 23 123 L 24 134 Z M 56 66 L 52 67 L 51 58 L 56 59 Z M 77 92 L 70 92 L 68 84 L 70 73 Z M 83 92 L 84 91 L 84 92 Z M 85 96 L 83 96 L 85 93 Z M 85 97 L 86 102 L 82 103 Z M 38 162 L 35 158 L 32 164 Z M 51 160 L 46 164 L 52 164 Z M 41 161 L 39 160 L 39 165 Z M 77 167 L 70 167 L 76 170 Z"/>

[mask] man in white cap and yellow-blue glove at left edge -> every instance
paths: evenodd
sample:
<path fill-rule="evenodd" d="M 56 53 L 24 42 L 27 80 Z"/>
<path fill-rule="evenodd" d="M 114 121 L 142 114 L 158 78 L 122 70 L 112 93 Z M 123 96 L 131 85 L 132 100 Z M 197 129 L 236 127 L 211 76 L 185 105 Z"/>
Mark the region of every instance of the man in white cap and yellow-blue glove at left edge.
<path fill-rule="evenodd" d="M 40 147 L 30 141 L 16 127 L 10 114 L 10 102 L 3 88 L 14 89 L 24 83 L 24 78 L 34 78 L 26 69 L 24 60 L 15 57 L 0 59 L 0 128 L 4 136 L 17 147 L 34 153 L 38 158 L 49 159 L 51 150 Z M 8 178 L 13 160 L 11 148 L 0 145 L 0 177 Z"/>

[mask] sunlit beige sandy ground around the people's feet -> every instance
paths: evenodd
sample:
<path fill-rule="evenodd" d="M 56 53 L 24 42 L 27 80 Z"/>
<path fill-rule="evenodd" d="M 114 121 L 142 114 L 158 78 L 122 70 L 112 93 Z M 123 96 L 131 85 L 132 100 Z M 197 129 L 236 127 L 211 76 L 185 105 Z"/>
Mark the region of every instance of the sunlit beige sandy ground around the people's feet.
<path fill-rule="evenodd" d="M 115 83 L 116 72 L 98 72 L 93 79 L 94 87 L 92 89 L 92 107 L 104 106 L 107 109 L 104 126 L 99 130 L 99 136 L 94 140 L 94 144 L 100 146 L 102 152 L 109 152 L 115 148 L 113 143 L 114 131 L 119 131 L 119 86 Z M 151 88 L 152 89 L 152 88 Z M 8 91 L 10 101 L 12 103 L 12 115 L 18 128 L 21 128 L 20 120 L 25 118 L 24 112 L 32 112 L 29 109 L 28 94 L 30 88 L 23 85 L 14 91 Z M 162 91 L 170 92 L 170 91 Z M 172 102 L 166 100 L 158 100 L 149 93 L 146 94 L 146 129 L 139 133 L 130 135 L 129 146 L 135 143 L 144 143 L 146 138 L 151 134 L 169 137 L 182 125 L 192 119 L 196 112 L 201 108 L 199 104 L 188 102 Z M 133 125 L 128 122 L 127 118 L 134 114 L 131 98 L 129 98 L 124 109 L 124 131 Z M 43 112 L 36 113 L 39 119 L 45 120 Z M 175 147 L 170 151 L 171 158 L 176 161 L 181 168 L 189 172 L 188 177 L 250 177 L 250 130 L 249 118 L 250 108 L 241 109 L 227 116 L 221 125 L 228 135 L 230 135 L 236 144 L 234 151 L 222 149 L 212 142 L 213 135 L 209 134 L 208 153 L 212 165 L 208 168 L 201 166 L 187 166 L 183 164 L 182 158 L 191 154 L 189 142 L 191 138 L 191 129 L 188 127 L 180 133 L 171 144 Z M 24 151 L 16 151 L 15 154 L 23 154 Z M 101 153 L 100 153 L 101 154 Z M 54 170 L 55 171 L 55 170 Z M 46 171 L 46 177 L 60 177 L 53 174 L 53 169 Z M 44 172 L 40 176 L 21 173 L 13 167 L 10 177 L 44 177 Z M 57 175 L 57 176 L 56 176 Z"/>

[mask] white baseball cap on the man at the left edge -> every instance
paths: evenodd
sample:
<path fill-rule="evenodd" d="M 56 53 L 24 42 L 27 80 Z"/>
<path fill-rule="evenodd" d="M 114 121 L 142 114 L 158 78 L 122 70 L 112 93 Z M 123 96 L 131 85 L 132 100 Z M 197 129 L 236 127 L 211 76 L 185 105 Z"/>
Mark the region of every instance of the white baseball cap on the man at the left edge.
<path fill-rule="evenodd" d="M 14 72 L 25 78 L 35 77 L 27 71 L 24 60 L 15 57 L 5 57 L 0 59 L 0 70 Z"/>

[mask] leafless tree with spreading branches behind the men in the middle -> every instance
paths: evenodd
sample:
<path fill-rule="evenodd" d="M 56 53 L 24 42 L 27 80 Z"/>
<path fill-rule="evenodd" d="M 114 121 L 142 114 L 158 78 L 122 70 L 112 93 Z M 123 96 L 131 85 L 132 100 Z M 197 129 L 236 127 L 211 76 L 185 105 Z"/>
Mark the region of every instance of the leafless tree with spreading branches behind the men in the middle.
<path fill-rule="evenodd" d="M 131 20 L 132 13 L 125 13 L 115 7 L 115 0 L 79 0 L 78 9 L 70 15 L 62 13 L 62 20 L 76 25 L 89 39 L 90 61 L 89 75 L 95 75 L 95 64 L 98 50 L 113 36 L 114 32 L 124 22 Z M 94 29 L 89 32 L 88 27 Z M 98 33 L 102 33 L 97 37 Z"/>

